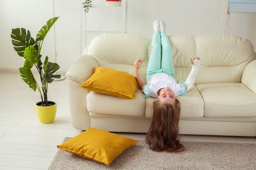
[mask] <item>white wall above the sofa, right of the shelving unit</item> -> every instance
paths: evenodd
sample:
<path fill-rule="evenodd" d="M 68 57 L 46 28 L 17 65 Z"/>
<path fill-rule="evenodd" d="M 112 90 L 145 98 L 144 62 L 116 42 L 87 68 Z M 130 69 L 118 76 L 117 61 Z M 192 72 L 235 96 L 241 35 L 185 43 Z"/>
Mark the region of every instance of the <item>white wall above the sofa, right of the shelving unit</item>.
<path fill-rule="evenodd" d="M 128 0 L 128 32 L 152 36 L 164 20 L 168 35 L 220 34 L 222 0 Z M 256 14 L 231 13 L 229 34 L 249 39 L 256 50 Z"/>

